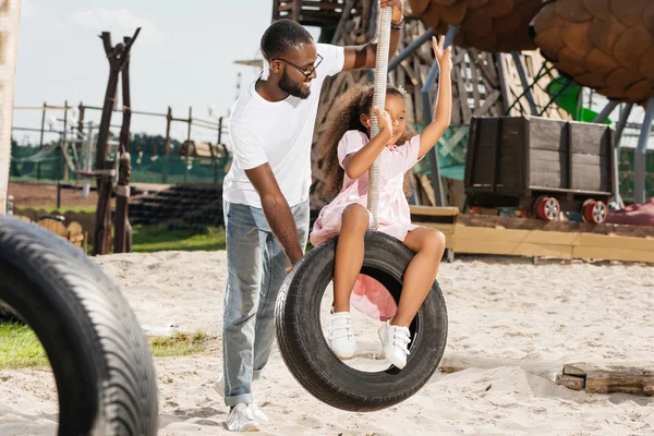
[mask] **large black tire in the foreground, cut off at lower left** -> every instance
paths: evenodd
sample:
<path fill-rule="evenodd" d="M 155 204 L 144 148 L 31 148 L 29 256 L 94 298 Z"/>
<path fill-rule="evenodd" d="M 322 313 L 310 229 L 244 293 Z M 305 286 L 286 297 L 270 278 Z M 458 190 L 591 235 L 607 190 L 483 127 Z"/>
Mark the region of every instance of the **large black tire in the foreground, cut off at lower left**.
<path fill-rule="evenodd" d="M 118 286 L 64 239 L 0 217 L 0 300 L 34 329 L 55 375 L 59 435 L 156 435 L 157 382 Z"/>

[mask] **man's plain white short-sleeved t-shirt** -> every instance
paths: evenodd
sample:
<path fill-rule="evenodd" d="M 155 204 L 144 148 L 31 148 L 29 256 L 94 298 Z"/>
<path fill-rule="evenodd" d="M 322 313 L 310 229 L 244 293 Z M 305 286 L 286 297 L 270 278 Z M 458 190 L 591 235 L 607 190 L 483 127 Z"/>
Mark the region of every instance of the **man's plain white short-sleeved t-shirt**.
<path fill-rule="evenodd" d="M 268 162 L 289 206 L 308 197 L 311 145 L 325 77 L 343 69 L 342 47 L 316 44 L 323 62 L 316 69 L 306 99 L 289 96 L 268 101 L 255 90 L 256 81 L 243 89 L 229 120 L 233 149 L 232 167 L 222 183 L 222 197 L 230 203 L 262 207 L 261 197 L 245 170 Z"/>

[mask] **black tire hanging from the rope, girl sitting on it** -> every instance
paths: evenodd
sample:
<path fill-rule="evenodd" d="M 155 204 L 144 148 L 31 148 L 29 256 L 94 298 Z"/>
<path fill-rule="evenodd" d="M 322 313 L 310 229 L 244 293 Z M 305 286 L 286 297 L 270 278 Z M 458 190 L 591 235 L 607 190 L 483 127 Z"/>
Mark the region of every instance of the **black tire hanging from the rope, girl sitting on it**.
<path fill-rule="evenodd" d="M 376 373 L 354 370 L 331 352 L 320 328 L 320 302 L 332 278 L 335 253 L 336 239 L 313 249 L 282 284 L 275 308 L 282 359 L 295 379 L 327 404 L 356 412 L 391 407 L 415 393 L 438 367 L 447 341 L 443 293 L 434 281 L 410 326 L 410 355 L 403 370 L 392 365 Z M 397 303 L 412 257 L 397 239 L 367 232 L 361 271 L 382 282 Z"/>

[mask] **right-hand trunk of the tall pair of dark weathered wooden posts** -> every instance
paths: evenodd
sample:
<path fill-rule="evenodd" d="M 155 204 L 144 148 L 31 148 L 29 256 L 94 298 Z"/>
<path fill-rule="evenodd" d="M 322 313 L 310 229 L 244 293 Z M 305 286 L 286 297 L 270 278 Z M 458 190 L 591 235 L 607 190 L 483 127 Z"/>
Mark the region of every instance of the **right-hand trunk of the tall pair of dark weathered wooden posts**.
<path fill-rule="evenodd" d="M 125 45 L 130 38 L 124 37 Z M 130 177 L 132 162 L 130 157 L 130 123 L 132 121 L 132 99 L 130 97 L 130 53 L 121 71 L 123 119 L 120 129 L 120 155 L 118 167 L 118 185 L 116 186 L 116 232 L 113 235 L 113 253 L 132 251 L 132 226 L 128 217 L 130 203 Z"/>

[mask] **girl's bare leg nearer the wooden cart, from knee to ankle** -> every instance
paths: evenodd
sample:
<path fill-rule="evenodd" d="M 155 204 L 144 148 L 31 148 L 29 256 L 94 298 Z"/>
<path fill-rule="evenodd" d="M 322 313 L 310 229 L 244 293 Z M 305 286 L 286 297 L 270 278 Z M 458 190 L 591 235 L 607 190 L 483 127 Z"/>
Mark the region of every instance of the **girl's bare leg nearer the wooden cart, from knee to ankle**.
<path fill-rule="evenodd" d="M 445 252 L 445 235 L 438 230 L 419 227 L 407 233 L 403 242 L 415 255 L 404 272 L 398 312 L 390 324 L 409 327 L 436 279 Z"/>

